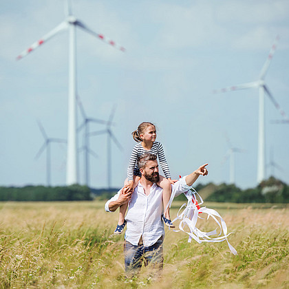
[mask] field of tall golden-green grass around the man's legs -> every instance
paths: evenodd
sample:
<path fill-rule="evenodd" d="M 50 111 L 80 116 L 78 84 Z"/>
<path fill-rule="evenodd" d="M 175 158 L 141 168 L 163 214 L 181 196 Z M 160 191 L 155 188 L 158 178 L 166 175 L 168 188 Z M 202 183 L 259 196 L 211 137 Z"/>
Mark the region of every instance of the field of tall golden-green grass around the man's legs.
<path fill-rule="evenodd" d="M 288 206 L 206 204 L 229 242 L 197 244 L 166 228 L 164 269 L 124 272 L 118 213 L 103 201 L 0 203 L 0 288 L 289 288 Z M 182 202 L 173 203 L 174 217 Z M 200 220 L 200 228 L 215 223 Z"/>

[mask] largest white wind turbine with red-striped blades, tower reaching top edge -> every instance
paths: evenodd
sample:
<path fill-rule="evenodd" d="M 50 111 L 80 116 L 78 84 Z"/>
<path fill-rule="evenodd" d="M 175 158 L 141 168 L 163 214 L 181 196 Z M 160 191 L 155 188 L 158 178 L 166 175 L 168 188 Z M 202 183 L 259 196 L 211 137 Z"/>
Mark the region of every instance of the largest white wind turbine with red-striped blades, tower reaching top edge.
<path fill-rule="evenodd" d="M 76 121 L 76 27 L 81 28 L 104 41 L 105 43 L 116 47 L 118 50 L 125 51 L 125 48 L 116 44 L 111 39 L 107 39 L 103 34 L 98 34 L 87 28 L 83 22 L 79 21 L 72 15 L 70 1 L 67 0 L 66 17 L 63 22 L 56 26 L 53 30 L 45 34 L 39 41 L 34 42 L 27 50 L 21 52 L 17 57 L 20 60 L 24 56 L 30 54 L 37 47 L 43 45 L 53 36 L 67 29 L 69 31 L 69 89 L 68 89 L 68 131 L 67 131 L 67 171 L 66 184 L 78 183 L 78 158 L 77 158 L 77 121 Z"/>

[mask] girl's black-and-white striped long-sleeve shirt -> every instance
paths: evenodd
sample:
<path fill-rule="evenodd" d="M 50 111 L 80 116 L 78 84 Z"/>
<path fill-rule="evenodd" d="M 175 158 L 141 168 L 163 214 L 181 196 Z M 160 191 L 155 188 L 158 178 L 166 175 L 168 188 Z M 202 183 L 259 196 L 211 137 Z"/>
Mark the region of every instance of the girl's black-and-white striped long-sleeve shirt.
<path fill-rule="evenodd" d="M 129 167 L 127 168 L 127 180 L 133 180 L 133 169 L 138 169 L 138 157 L 142 156 L 144 153 L 152 153 L 153 155 L 157 155 L 160 162 L 160 167 L 164 172 L 164 176 L 166 178 L 171 178 L 171 173 L 169 172 L 169 165 L 167 164 L 167 160 L 164 156 L 164 149 L 162 148 L 162 144 L 160 142 L 153 142 L 153 147 L 151 147 L 151 149 L 147 151 L 142 147 L 142 144 L 139 142 L 133 147 L 133 151 L 131 152 Z"/>

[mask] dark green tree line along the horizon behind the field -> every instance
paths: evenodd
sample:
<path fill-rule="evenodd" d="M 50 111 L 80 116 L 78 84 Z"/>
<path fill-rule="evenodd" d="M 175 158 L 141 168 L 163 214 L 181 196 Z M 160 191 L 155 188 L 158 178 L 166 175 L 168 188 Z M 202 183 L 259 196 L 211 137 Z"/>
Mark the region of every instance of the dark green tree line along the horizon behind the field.
<path fill-rule="evenodd" d="M 234 203 L 288 203 L 289 186 L 273 177 L 261 182 L 253 189 L 239 189 L 235 184 L 198 184 L 195 187 L 207 202 Z M 89 189 L 88 186 L 0 186 L 0 202 L 28 201 L 88 201 L 108 200 L 118 189 Z M 186 200 L 182 194 L 178 200 Z"/>

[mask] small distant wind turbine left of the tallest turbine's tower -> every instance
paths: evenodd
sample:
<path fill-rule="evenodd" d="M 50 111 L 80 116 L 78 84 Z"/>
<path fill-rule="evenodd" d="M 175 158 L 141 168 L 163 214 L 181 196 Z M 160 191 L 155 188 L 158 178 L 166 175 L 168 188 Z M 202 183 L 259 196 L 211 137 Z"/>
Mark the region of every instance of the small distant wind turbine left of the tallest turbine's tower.
<path fill-rule="evenodd" d="M 46 149 L 46 178 L 47 178 L 47 186 L 51 186 L 51 152 L 50 152 L 50 144 L 51 142 L 60 142 L 60 143 L 67 143 L 66 140 L 63 140 L 61 138 L 48 138 L 47 134 L 45 133 L 45 130 L 43 126 L 41 125 L 41 122 L 38 121 L 39 129 L 42 133 L 42 136 L 44 138 L 44 143 L 42 147 L 39 149 L 38 153 L 36 153 L 35 159 L 38 159 L 39 156 L 41 156 L 41 153 L 43 153 L 44 149 Z"/>

